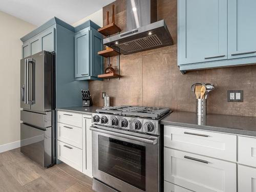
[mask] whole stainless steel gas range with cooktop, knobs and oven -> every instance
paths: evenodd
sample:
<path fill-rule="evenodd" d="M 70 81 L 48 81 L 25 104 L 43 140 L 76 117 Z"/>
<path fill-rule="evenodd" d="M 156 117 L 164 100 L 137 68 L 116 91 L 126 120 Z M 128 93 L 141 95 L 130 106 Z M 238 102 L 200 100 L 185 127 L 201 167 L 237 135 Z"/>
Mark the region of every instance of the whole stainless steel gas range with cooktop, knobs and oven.
<path fill-rule="evenodd" d="M 96 110 L 93 189 L 97 192 L 160 192 L 162 129 L 168 108 L 114 106 Z"/>

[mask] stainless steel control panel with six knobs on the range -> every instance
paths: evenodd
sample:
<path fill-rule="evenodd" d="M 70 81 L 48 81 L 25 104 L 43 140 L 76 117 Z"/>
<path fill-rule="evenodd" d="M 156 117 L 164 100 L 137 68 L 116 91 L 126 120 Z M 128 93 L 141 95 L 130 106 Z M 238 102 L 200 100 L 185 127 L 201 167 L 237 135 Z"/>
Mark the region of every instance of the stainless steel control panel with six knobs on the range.
<path fill-rule="evenodd" d="M 158 120 L 99 113 L 93 113 L 92 117 L 92 122 L 101 126 L 111 126 L 127 131 L 160 135 Z"/>

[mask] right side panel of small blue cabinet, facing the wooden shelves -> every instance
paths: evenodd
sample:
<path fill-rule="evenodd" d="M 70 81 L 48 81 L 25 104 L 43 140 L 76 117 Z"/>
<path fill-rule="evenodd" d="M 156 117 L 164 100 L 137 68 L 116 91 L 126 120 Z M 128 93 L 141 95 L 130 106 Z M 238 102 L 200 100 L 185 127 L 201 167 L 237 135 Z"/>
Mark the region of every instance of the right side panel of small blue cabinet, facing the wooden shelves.
<path fill-rule="evenodd" d="M 103 58 L 98 55 L 98 52 L 103 49 L 103 37 L 102 35 L 96 31 L 95 29 L 91 30 L 91 76 L 98 77 L 99 74 L 103 73 Z"/>

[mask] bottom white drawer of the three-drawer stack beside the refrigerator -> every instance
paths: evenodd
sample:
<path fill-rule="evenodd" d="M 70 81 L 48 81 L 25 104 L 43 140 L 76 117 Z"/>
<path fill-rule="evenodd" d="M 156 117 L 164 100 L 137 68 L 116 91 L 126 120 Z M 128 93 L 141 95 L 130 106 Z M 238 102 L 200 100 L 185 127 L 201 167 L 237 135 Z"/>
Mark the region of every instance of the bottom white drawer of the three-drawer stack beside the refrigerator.
<path fill-rule="evenodd" d="M 58 159 L 82 172 L 82 150 L 58 141 Z"/>

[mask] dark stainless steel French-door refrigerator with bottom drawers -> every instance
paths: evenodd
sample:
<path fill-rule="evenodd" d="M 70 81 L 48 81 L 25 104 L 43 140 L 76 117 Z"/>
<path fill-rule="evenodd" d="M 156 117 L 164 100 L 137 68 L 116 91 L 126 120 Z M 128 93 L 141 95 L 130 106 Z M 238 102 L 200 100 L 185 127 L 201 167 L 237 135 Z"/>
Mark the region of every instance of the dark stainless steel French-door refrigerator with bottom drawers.
<path fill-rule="evenodd" d="M 46 51 L 20 60 L 20 152 L 44 167 L 56 162 L 54 68 Z"/>

